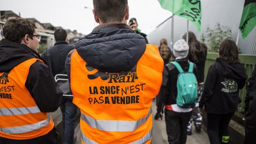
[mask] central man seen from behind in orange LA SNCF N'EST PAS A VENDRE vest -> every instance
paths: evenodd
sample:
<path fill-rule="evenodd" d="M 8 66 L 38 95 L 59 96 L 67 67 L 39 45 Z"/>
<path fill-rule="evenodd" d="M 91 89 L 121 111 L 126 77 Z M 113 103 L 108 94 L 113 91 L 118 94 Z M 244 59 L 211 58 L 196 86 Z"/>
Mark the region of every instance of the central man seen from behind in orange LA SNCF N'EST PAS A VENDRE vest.
<path fill-rule="evenodd" d="M 153 98 L 162 82 L 158 47 L 127 25 L 127 0 L 94 0 L 98 25 L 66 60 L 82 143 L 151 143 Z"/>

